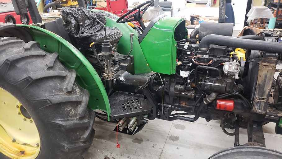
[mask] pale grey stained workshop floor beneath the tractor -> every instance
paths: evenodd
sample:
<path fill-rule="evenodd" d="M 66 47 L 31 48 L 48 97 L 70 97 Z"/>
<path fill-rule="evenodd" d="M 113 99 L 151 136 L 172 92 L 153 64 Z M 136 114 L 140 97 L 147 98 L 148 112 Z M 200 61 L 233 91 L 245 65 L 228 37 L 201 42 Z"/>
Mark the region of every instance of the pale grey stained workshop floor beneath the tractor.
<path fill-rule="evenodd" d="M 234 137 L 223 133 L 219 125 L 202 118 L 196 122 L 155 119 L 133 136 L 118 133 L 121 147 L 116 148 L 116 125 L 96 118 L 95 138 L 85 159 L 207 159 L 233 147 Z M 275 134 L 275 124 L 263 127 L 266 147 L 282 152 L 282 135 Z M 240 144 L 247 142 L 247 131 L 240 129 Z"/>

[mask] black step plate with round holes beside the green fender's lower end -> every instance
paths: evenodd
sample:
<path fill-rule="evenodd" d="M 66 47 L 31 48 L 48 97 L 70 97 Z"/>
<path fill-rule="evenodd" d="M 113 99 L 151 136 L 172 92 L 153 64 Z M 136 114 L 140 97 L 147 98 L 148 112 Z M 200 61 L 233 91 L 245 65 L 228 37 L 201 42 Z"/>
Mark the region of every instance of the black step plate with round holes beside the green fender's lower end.
<path fill-rule="evenodd" d="M 119 119 L 136 115 L 148 114 L 152 105 L 143 95 L 126 92 L 115 92 L 109 97 L 111 105 L 111 119 Z"/>

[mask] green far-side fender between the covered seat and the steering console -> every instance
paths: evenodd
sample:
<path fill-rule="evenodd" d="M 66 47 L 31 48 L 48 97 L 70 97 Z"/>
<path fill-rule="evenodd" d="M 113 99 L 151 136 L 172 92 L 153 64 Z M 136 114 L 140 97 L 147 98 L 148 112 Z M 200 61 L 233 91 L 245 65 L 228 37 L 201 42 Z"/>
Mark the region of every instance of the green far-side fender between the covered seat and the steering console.
<path fill-rule="evenodd" d="M 92 12 L 98 12 L 101 10 L 95 10 L 93 9 Z M 103 11 L 106 12 L 106 11 Z M 127 23 L 116 23 L 116 20 L 119 18 L 118 16 L 110 13 L 110 12 L 106 12 L 106 19 L 107 19 L 107 23 L 106 26 L 110 26 L 110 27 L 117 27 L 121 30 L 123 36 L 121 37 L 120 42 L 118 43 L 118 52 L 120 54 L 124 54 L 127 55 L 130 51 L 131 48 L 131 44 L 130 44 L 130 33 L 134 33 L 134 37 L 133 37 L 133 46 L 132 46 L 132 52 L 130 53 L 130 55 L 134 56 L 134 72 L 135 73 L 147 73 L 147 72 L 151 72 L 151 69 L 147 66 L 147 61 L 144 57 L 143 51 L 140 47 L 140 44 L 138 42 L 138 34 L 136 33 L 136 31 L 129 26 Z"/>

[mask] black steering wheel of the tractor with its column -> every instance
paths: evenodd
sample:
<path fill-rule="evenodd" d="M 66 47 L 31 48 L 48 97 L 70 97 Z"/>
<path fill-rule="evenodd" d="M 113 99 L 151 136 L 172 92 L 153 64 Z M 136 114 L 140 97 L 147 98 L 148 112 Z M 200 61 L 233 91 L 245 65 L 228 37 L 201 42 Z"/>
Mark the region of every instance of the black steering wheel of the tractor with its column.
<path fill-rule="evenodd" d="M 149 0 L 147 2 L 144 2 L 142 4 L 140 4 L 137 7 L 134 7 L 133 9 L 131 9 L 130 11 L 126 12 L 123 16 L 121 16 L 116 23 L 126 23 L 126 22 L 130 22 L 130 21 L 138 21 L 141 28 L 144 30 L 145 26 L 144 23 L 142 21 L 142 16 L 143 14 L 146 12 L 146 10 L 148 9 L 148 7 L 151 6 L 151 4 L 154 2 L 154 0 Z M 146 7 L 144 7 L 143 9 L 141 9 L 141 7 L 145 6 L 146 4 L 148 4 Z M 130 15 L 130 13 L 136 11 L 138 9 L 138 12 Z M 141 13 L 142 12 L 142 13 Z M 130 15 L 130 16 L 128 16 Z M 128 17 L 126 17 L 128 16 Z M 141 24 L 142 23 L 142 24 Z M 144 27 L 144 28 L 143 28 Z"/>

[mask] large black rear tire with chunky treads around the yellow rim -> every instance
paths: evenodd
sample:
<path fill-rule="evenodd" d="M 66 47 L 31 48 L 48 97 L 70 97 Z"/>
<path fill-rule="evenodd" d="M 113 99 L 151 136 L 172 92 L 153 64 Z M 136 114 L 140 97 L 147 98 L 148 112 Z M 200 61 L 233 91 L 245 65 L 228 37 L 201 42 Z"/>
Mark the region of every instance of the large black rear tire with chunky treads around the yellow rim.
<path fill-rule="evenodd" d="M 0 37 L 0 50 L 0 87 L 33 118 L 41 141 L 37 159 L 82 159 L 93 141 L 95 112 L 87 107 L 89 92 L 75 82 L 75 70 L 35 41 Z M 0 152 L 0 158 L 8 157 Z"/>

